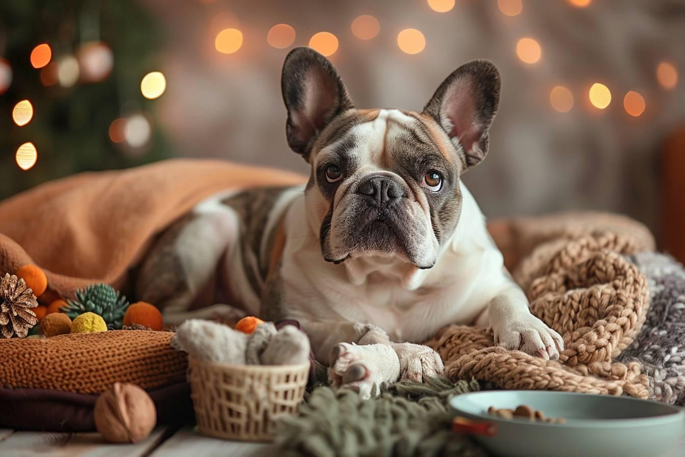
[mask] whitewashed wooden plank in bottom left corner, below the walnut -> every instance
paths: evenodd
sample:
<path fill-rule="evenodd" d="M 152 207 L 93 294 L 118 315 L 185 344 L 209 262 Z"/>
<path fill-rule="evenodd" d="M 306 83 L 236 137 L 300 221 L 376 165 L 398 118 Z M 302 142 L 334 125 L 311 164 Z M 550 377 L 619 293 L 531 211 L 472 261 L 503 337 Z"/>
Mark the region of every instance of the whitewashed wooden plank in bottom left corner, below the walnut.
<path fill-rule="evenodd" d="M 167 432 L 167 428 L 156 428 L 147 439 L 135 444 L 107 443 L 97 432 L 14 432 L 7 439 L 0 441 L 0 456 L 142 457 L 149 454 L 168 436 Z"/>

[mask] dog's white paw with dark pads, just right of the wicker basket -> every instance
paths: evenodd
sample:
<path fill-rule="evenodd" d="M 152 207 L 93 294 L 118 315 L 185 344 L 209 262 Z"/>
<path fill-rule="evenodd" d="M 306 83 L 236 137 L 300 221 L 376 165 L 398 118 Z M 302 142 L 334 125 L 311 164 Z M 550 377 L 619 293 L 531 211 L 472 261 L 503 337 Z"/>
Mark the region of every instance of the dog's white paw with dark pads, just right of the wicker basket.
<path fill-rule="evenodd" d="M 390 345 L 340 343 L 331 349 L 328 376 L 334 387 L 347 387 L 366 399 L 378 395 L 382 382 L 399 377 L 399 359 Z"/>

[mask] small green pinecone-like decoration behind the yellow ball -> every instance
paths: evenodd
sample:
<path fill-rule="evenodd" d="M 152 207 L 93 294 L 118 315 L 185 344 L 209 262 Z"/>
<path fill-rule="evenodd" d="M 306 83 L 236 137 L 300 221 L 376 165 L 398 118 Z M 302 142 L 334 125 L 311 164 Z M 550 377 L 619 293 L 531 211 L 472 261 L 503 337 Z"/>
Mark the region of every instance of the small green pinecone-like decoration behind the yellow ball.
<path fill-rule="evenodd" d="M 75 300 L 67 300 L 69 306 L 61 310 L 72 321 L 84 312 L 95 312 L 105 319 L 109 330 L 121 330 L 124 314 L 129 306 L 125 296 L 107 284 L 92 284 L 76 291 Z"/>

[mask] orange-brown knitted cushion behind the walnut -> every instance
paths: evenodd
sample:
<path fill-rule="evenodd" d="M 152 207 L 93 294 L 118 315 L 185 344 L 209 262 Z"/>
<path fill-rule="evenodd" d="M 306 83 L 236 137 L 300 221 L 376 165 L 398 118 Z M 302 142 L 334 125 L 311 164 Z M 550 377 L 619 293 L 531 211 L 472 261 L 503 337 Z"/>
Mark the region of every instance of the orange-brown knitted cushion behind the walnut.
<path fill-rule="evenodd" d="M 51 338 L 0 339 L 0 384 L 101 393 L 114 382 L 151 390 L 186 379 L 186 354 L 171 332 L 112 330 Z"/>

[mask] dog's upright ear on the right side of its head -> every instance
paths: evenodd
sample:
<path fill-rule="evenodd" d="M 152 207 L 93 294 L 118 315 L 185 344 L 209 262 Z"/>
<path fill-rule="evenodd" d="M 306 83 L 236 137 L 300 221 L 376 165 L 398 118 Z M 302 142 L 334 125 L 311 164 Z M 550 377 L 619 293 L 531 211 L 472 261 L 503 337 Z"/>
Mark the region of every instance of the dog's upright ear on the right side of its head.
<path fill-rule="evenodd" d="M 472 60 L 453 71 L 423 108 L 440 124 L 466 166 L 478 164 L 488 153 L 488 129 L 499 104 L 499 71 L 488 60 Z"/>

